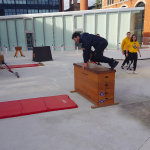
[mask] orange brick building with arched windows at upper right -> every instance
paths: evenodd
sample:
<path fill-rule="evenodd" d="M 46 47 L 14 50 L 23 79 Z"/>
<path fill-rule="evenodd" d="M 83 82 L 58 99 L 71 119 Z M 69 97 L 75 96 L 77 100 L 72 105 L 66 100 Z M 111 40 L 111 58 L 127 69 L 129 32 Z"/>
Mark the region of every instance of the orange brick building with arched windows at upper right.
<path fill-rule="evenodd" d="M 145 7 L 143 15 L 143 44 L 150 42 L 150 0 L 102 0 L 102 9 L 121 7 Z"/>

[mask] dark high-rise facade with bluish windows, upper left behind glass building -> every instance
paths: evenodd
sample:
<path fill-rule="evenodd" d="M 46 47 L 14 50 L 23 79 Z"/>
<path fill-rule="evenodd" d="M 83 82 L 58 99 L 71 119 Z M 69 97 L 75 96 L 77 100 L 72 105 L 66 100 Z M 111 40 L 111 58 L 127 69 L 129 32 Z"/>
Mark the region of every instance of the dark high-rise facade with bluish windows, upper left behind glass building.
<path fill-rule="evenodd" d="M 64 0 L 0 0 L 0 16 L 64 11 Z"/>

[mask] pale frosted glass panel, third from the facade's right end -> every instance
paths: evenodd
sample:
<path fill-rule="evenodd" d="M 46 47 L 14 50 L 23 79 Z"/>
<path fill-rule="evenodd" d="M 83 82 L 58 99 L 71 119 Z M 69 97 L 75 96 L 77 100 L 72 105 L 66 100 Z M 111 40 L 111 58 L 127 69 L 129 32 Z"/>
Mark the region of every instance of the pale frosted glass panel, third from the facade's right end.
<path fill-rule="evenodd" d="M 118 13 L 108 13 L 108 48 L 117 49 Z"/>

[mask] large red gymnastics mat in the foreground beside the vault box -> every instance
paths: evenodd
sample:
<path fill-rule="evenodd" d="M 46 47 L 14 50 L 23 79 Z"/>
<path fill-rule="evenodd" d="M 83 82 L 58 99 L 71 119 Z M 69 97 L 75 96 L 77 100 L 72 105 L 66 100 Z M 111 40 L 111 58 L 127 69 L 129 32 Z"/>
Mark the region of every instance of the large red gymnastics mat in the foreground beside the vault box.
<path fill-rule="evenodd" d="M 0 102 L 0 119 L 78 108 L 68 95 Z"/>

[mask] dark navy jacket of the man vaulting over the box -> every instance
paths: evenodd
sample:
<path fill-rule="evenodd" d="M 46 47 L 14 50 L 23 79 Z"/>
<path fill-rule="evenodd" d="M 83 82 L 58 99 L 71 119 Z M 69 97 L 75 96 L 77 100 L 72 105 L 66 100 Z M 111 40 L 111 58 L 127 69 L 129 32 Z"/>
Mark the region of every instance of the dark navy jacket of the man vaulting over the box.
<path fill-rule="evenodd" d="M 107 43 L 107 40 L 97 35 L 83 33 L 79 42 L 84 45 L 84 62 L 87 63 L 90 59 L 91 46 L 95 48 L 100 43 Z"/>

